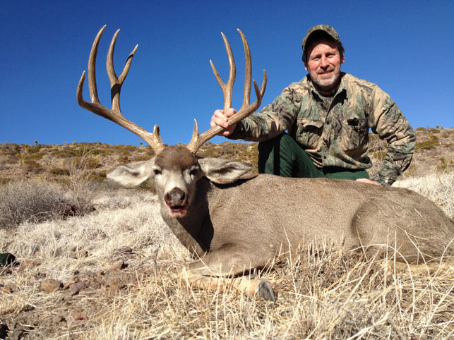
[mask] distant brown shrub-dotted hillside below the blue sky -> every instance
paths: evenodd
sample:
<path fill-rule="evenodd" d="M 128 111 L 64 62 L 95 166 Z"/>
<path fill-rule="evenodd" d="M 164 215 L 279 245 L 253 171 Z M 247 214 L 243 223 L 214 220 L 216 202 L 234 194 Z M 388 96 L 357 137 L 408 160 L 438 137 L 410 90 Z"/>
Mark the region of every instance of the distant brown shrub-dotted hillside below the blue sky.
<path fill-rule="evenodd" d="M 417 147 L 410 169 L 405 176 L 422 176 L 429 171 L 453 171 L 454 128 L 417 128 Z M 374 174 L 385 155 L 385 144 L 371 135 L 370 156 Z M 201 157 L 221 157 L 244 160 L 254 164 L 257 171 L 257 143 L 207 142 L 198 152 Z M 76 143 L 68 145 L 35 145 L 0 143 L 0 183 L 18 178 L 43 178 L 66 181 L 71 171 L 88 171 L 90 178 L 102 181 L 107 169 L 118 164 L 138 162 L 153 157 L 149 146 Z"/>

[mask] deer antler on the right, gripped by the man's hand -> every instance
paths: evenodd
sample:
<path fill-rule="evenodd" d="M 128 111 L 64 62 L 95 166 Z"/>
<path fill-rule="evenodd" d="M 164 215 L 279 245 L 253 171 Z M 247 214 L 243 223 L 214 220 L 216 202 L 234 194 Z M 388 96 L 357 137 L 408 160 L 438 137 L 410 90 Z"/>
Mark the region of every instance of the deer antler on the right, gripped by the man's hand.
<path fill-rule="evenodd" d="M 265 93 L 265 87 L 266 87 L 266 72 L 263 70 L 263 82 L 261 89 L 258 89 L 256 80 L 253 80 L 253 85 L 254 89 L 256 90 L 256 96 L 257 100 L 256 102 L 253 102 L 252 104 L 249 104 L 249 99 L 251 97 L 251 73 L 252 73 L 252 66 L 251 66 L 251 51 L 249 51 L 249 44 L 246 40 L 246 37 L 244 37 L 243 32 L 241 30 L 238 30 L 239 35 L 241 35 L 241 40 L 243 41 L 243 46 L 244 46 L 244 59 L 245 59 L 245 75 L 244 75 L 244 95 L 243 95 L 243 104 L 241 106 L 241 109 L 237 111 L 236 114 L 233 116 L 229 117 L 227 119 L 227 123 L 229 126 L 231 126 L 234 123 L 237 123 L 241 121 L 242 119 L 246 118 L 250 114 L 252 114 L 258 107 L 260 107 L 260 104 L 262 102 L 263 94 Z M 215 74 L 215 77 L 217 79 L 217 83 L 219 83 L 220 87 L 222 88 L 222 92 L 224 93 L 224 113 L 227 112 L 227 109 L 232 107 L 232 90 L 233 90 L 233 84 L 235 81 L 235 76 L 237 74 L 237 69 L 235 68 L 235 61 L 233 59 L 233 54 L 232 54 L 232 49 L 230 48 L 229 41 L 227 40 L 227 37 L 225 37 L 224 33 L 222 33 L 222 38 L 224 39 L 224 44 L 225 44 L 225 49 L 227 51 L 227 56 L 229 57 L 229 66 L 230 66 L 230 71 L 229 71 L 229 79 L 227 80 L 227 83 L 223 83 L 222 79 L 217 72 L 215 66 L 213 65 L 213 61 L 210 60 L 211 63 L 211 68 L 213 68 L 213 73 Z M 192 138 L 191 141 L 188 144 L 188 149 L 191 151 L 193 154 L 196 154 L 197 150 L 203 145 L 204 142 L 210 140 L 213 138 L 215 135 L 220 133 L 222 130 L 225 130 L 225 128 L 222 128 L 221 126 L 215 126 L 214 128 L 210 128 L 210 130 L 206 130 L 204 133 L 201 135 L 198 134 L 198 126 L 197 126 L 197 121 L 194 119 L 194 129 L 192 133 Z"/>

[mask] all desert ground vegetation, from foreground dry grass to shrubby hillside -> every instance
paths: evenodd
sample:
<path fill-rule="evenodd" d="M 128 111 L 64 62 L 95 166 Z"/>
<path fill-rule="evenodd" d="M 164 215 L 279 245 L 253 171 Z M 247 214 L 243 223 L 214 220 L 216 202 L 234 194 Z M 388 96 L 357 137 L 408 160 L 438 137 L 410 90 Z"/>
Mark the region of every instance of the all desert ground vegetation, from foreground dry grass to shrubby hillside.
<path fill-rule="evenodd" d="M 411 174 L 395 186 L 422 193 L 452 218 L 453 130 L 417 133 L 418 142 L 436 135 L 438 144 L 419 148 Z M 383 145 L 372 147 L 379 164 Z M 191 257 L 162 221 L 153 183 L 125 190 L 104 181 L 109 167 L 152 157 L 149 147 L 4 143 L 0 151 L 0 253 L 16 256 L 0 266 L 0 339 L 454 335 L 452 267 L 395 272 L 378 258 L 326 244 L 258 273 L 273 282 L 276 303 L 232 287 L 189 289 L 178 273 Z M 208 142 L 199 154 L 257 157 L 255 144 L 241 142 Z"/>

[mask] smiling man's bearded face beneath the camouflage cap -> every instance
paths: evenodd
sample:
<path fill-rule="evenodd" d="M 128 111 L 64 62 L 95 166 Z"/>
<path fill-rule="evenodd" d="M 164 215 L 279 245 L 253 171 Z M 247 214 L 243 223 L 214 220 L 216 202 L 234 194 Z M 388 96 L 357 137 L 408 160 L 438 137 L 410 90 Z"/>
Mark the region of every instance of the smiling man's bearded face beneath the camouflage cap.
<path fill-rule="evenodd" d="M 323 90 L 333 90 L 337 86 L 340 75 L 340 65 L 345 59 L 340 58 L 335 42 L 319 40 L 309 46 L 306 71 L 311 75 L 314 83 Z"/>

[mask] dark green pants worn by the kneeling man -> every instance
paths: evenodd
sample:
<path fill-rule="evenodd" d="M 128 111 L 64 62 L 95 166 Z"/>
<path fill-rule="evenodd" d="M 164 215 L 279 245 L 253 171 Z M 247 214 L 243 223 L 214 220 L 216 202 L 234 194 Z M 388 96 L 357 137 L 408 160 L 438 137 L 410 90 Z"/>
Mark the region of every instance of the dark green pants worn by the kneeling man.
<path fill-rule="evenodd" d="M 369 178 L 366 170 L 330 166 L 318 169 L 311 157 L 286 133 L 258 144 L 258 172 L 283 177 Z"/>

